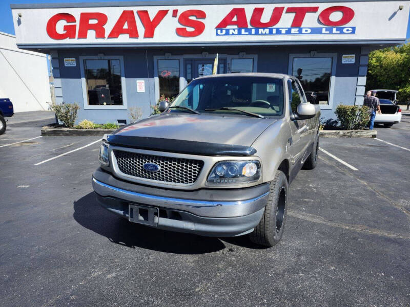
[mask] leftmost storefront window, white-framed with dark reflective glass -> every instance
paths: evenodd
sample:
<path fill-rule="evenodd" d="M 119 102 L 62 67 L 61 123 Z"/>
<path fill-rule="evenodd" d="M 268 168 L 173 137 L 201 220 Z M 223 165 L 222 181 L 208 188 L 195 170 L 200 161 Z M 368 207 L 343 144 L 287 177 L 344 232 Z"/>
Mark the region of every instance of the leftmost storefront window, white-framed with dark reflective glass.
<path fill-rule="evenodd" d="M 122 105 L 120 61 L 84 60 L 89 105 Z"/>

